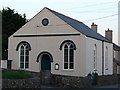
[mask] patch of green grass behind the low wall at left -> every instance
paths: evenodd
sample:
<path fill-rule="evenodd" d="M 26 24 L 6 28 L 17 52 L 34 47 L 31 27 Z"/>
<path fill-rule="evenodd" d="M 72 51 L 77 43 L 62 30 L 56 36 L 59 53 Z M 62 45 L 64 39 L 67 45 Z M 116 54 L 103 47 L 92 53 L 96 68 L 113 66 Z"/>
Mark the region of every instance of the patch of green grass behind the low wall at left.
<path fill-rule="evenodd" d="M 18 71 L 3 70 L 2 71 L 3 79 L 27 79 L 32 77 L 33 77 L 32 74 L 23 70 L 18 70 Z"/>

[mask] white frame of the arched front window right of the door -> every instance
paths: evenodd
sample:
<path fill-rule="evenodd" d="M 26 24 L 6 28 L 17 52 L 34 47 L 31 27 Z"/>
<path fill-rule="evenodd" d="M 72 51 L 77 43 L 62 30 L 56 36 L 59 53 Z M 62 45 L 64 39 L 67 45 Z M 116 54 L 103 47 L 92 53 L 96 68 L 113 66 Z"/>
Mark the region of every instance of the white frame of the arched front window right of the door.
<path fill-rule="evenodd" d="M 75 67 L 75 64 L 74 64 L 74 61 L 75 61 L 75 60 L 74 60 L 74 56 L 75 56 L 75 55 L 74 55 L 74 54 L 75 54 L 75 53 L 74 53 L 74 45 L 73 45 L 72 43 L 70 43 L 70 44 L 68 45 L 68 43 L 70 43 L 70 42 L 67 42 L 67 43 L 65 43 L 65 44 L 63 45 L 63 70 L 74 70 L 74 67 Z M 64 47 L 65 47 L 65 45 L 68 46 L 68 69 L 65 69 L 65 68 L 64 68 L 64 61 L 65 61 L 65 60 L 64 60 Z M 74 54 L 73 54 L 73 69 L 70 69 L 70 46 L 71 46 L 71 45 L 73 45 L 73 53 L 74 53 Z"/>

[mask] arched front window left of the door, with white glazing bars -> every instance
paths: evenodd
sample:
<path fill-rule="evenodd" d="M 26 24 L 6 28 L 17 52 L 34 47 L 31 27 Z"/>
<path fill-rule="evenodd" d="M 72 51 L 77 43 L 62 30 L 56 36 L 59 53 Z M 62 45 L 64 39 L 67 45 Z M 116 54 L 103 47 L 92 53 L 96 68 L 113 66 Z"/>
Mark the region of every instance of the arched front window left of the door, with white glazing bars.
<path fill-rule="evenodd" d="M 29 46 L 26 43 L 19 47 L 19 67 L 21 69 L 29 68 Z"/>

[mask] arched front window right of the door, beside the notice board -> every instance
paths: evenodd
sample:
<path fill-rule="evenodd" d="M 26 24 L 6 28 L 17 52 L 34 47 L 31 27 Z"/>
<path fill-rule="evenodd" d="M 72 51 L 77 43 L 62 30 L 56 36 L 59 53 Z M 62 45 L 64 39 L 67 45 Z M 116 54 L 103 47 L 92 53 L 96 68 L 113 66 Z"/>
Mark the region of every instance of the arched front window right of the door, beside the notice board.
<path fill-rule="evenodd" d="M 74 69 L 74 46 L 67 42 L 64 44 L 64 69 Z"/>

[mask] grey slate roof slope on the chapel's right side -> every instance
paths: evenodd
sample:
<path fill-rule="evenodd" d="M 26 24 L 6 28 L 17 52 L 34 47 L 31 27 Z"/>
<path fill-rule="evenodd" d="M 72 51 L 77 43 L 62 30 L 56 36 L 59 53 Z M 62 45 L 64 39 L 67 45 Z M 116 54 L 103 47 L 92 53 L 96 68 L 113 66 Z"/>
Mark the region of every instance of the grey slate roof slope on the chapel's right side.
<path fill-rule="evenodd" d="M 58 16 L 60 19 L 62 19 L 63 21 L 65 21 L 67 24 L 69 24 L 70 26 L 72 26 L 77 31 L 79 31 L 80 33 L 86 35 L 87 37 L 91 37 L 91 38 L 94 38 L 94 39 L 98 39 L 98 40 L 101 40 L 101 41 L 112 43 L 111 41 L 107 40 L 105 37 L 103 37 L 99 33 L 95 32 L 94 30 L 92 30 L 91 28 L 89 28 L 84 23 L 82 23 L 80 21 L 77 21 L 75 19 L 72 19 L 72 18 L 70 18 L 68 16 L 65 16 L 63 14 L 60 14 L 60 13 L 58 13 L 56 11 L 53 11 L 53 10 L 51 10 L 49 8 L 47 8 L 47 9 L 49 11 L 51 11 L 53 14 L 55 14 L 56 16 Z"/>

